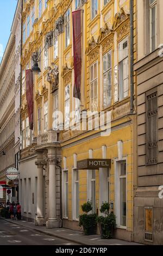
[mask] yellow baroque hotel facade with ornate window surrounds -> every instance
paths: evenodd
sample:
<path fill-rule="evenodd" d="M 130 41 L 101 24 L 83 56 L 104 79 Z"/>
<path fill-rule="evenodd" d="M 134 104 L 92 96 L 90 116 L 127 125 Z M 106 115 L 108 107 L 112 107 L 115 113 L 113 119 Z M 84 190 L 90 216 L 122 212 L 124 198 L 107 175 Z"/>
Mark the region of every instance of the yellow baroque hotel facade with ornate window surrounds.
<path fill-rule="evenodd" d="M 72 40 L 72 12 L 80 8 L 81 101 L 73 97 Z M 37 225 L 46 222 L 47 228 L 58 227 L 62 220 L 63 227 L 79 229 L 83 203 L 91 200 L 93 211 L 99 215 L 102 202 L 109 201 L 110 210 L 116 214 L 116 237 L 131 241 L 136 109 L 135 88 L 134 95 L 130 94 L 130 1 L 27 0 L 22 17 L 20 187 L 24 192 L 20 193 L 24 217 L 35 218 Z M 135 19 L 134 14 L 134 24 Z M 135 33 L 134 28 L 134 60 Z M 34 77 L 34 129 L 30 131 L 25 71 L 32 68 L 35 58 L 41 72 Z M 57 122 L 56 111 L 63 117 Z M 109 113 L 107 136 L 97 124 L 88 128 L 90 119 L 84 113 L 89 111 L 103 112 L 105 124 Z M 72 112 L 76 128 L 70 120 Z M 85 117 L 86 128 L 79 130 L 81 117 Z M 78 161 L 85 159 L 110 159 L 111 166 L 79 169 Z"/>

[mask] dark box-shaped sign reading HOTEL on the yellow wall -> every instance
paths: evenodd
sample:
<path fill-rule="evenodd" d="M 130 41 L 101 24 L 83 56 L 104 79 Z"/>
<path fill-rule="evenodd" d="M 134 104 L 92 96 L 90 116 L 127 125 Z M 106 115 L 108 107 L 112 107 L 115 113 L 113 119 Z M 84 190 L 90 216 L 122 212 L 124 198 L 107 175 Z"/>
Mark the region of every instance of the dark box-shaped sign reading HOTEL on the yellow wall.
<path fill-rule="evenodd" d="M 110 168 L 111 159 L 84 159 L 77 162 L 78 170 L 92 170 L 99 168 Z"/>

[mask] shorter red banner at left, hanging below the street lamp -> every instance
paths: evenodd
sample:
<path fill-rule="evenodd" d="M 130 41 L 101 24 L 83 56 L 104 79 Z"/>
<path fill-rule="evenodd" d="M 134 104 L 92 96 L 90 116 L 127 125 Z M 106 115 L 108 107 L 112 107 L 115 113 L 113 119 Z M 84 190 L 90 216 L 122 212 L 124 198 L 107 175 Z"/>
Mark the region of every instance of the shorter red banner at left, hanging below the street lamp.
<path fill-rule="evenodd" d="M 26 98 L 28 106 L 29 129 L 33 130 L 33 72 L 30 69 L 26 70 Z"/>

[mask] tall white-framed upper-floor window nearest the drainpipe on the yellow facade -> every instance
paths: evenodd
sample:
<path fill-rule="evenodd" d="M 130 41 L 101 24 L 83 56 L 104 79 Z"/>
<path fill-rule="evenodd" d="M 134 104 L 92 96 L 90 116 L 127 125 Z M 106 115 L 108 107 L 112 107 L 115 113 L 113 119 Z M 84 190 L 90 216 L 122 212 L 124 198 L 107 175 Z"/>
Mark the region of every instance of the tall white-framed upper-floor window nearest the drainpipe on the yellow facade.
<path fill-rule="evenodd" d="M 128 37 L 118 44 L 119 100 L 128 96 Z"/>

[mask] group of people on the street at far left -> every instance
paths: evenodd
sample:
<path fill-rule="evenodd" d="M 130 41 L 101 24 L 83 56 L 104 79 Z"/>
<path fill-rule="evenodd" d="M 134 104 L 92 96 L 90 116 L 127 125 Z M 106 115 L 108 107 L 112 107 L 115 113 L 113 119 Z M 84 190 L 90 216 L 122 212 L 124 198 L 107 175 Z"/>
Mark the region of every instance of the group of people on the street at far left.
<path fill-rule="evenodd" d="M 8 200 L 6 204 L 1 202 L 0 208 L 6 208 L 9 211 L 11 220 L 21 220 L 21 205 L 18 201 L 10 203 Z"/>

